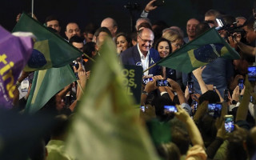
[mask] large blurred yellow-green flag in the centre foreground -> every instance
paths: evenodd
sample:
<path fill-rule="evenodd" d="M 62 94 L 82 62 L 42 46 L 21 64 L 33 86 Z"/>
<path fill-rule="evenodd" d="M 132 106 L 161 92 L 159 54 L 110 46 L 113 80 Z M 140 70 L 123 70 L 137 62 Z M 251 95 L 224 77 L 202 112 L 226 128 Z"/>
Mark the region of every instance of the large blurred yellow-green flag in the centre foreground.
<path fill-rule="evenodd" d="M 100 52 L 70 126 L 67 152 L 76 159 L 158 159 L 126 94 L 114 42 L 107 39 Z"/>

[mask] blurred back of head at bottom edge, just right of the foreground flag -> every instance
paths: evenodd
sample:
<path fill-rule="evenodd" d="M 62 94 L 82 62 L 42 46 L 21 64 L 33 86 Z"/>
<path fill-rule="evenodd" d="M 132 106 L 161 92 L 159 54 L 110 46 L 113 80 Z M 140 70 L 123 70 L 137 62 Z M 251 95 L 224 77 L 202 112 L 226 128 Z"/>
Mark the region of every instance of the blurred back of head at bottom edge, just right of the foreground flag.
<path fill-rule="evenodd" d="M 181 154 L 173 142 L 162 143 L 157 146 L 158 155 L 166 160 L 179 160 Z"/>

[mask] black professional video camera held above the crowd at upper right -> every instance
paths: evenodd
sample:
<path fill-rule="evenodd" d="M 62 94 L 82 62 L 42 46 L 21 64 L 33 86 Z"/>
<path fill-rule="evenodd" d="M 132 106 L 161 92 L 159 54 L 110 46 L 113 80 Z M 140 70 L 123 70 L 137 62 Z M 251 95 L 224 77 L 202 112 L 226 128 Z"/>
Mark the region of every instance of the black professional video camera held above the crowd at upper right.
<path fill-rule="evenodd" d="M 226 22 L 224 22 L 222 18 L 216 18 L 216 21 L 218 22 L 218 27 L 216 27 L 215 29 L 217 31 L 225 30 L 225 38 L 233 36 L 234 33 L 241 34 L 242 37 L 244 37 L 244 35 L 246 34 L 246 31 L 241 28 L 242 26 L 238 26 L 238 22 L 234 22 L 233 24 L 226 24 Z"/>

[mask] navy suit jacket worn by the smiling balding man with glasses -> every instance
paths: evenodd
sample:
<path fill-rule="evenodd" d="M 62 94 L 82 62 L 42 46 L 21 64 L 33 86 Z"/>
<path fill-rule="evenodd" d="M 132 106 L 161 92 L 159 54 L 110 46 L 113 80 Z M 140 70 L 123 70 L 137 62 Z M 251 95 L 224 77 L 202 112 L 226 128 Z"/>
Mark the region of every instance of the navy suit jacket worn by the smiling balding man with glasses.
<path fill-rule="evenodd" d="M 150 61 L 149 66 L 154 65 L 154 63 L 158 62 L 159 60 L 160 60 L 160 56 L 158 54 L 158 51 L 151 48 L 150 56 L 149 56 L 149 61 Z M 123 65 L 140 66 L 138 65 L 138 62 L 142 62 L 142 60 L 138 52 L 138 46 L 137 45 L 132 46 L 127 50 L 123 51 L 120 54 L 120 61 Z M 153 68 L 150 68 L 149 74 L 159 75 L 160 71 L 161 71 L 160 66 L 154 66 Z"/>

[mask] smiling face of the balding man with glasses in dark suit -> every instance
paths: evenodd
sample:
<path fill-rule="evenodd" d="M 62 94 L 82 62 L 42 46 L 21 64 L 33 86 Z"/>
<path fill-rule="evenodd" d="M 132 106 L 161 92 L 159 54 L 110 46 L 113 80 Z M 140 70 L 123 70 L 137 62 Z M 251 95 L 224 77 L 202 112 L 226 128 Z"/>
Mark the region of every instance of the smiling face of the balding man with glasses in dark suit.
<path fill-rule="evenodd" d="M 154 33 L 152 30 L 144 28 L 142 33 L 138 34 L 137 41 L 139 50 L 141 50 L 142 54 L 146 55 L 154 42 Z"/>

